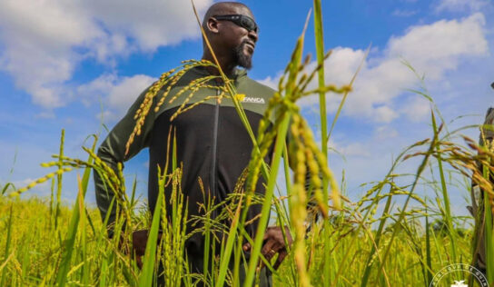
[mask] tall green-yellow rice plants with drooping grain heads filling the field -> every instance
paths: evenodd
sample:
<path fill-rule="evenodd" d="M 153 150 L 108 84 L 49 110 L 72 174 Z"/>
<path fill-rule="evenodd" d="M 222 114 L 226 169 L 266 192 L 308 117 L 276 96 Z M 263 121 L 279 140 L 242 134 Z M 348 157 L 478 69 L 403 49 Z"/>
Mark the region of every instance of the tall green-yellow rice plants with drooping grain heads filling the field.
<path fill-rule="evenodd" d="M 43 163 L 43 166 L 56 170 L 10 193 L 11 198 L 0 197 L 0 224 L 5 231 L 5 236 L 0 238 L 2 286 L 252 286 L 260 282 L 262 266 L 272 272 L 276 286 L 429 286 L 432 275 L 440 268 L 450 263 L 469 263 L 474 237 L 469 225 L 471 219 L 465 221 L 451 213 L 448 187 L 453 183 L 445 174 L 449 172 L 447 169 L 454 171 L 457 177 L 469 178 L 474 173 L 474 180 L 487 191 L 485 206 L 489 210 L 494 197 L 487 179 L 490 158 L 494 153 L 478 147 L 468 138 L 465 141 L 469 146 L 452 143 L 459 131 L 448 132 L 444 124 L 437 123 L 437 111 L 431 111 L 430 139 L 404 149 L 383 179 L 366 185 L 359 201 L 351 202 L 342 196 L 351 191 L 341 191 L 331 173 L 327 144 L 355 76 L 349 84 L 341 87 L 325 83 L 324 61 L 331 56 L 331 51 L 324 52 L 320 0 L 314 0 L 317 65 L 308 70 L 310 57 L 303 56 L 307 23 L 257 134 L 247 120 L 234 85 L 222 73 L 217 61 L 185 61 L 164 73 L 146 94 L 135 115 L 136 125 L 127 149 L 134 137 L 141 133 L 145 117 L 167 98 L 167 87 L 177 83 L 194 66 L 215 66 L 220 75 L 214 78 L 221 77 L 223 86 L 209 86 L 207 83 L 213 78 L 209 76 L 191 83 L 180 93 L 188 93 L 187 99 L 190 99 L 201 87 L 218 89 L 219 95 L 205 100 L 232 99 L 251 136 L 254 146 L 252 160 L 226 201 L 214 202 L 204 192 L 202 208 L 205 215 L 188 218 L 183 211 L 191 203 L 183 198 L 180 184 L 183 171 L 173 156 L 166 163 L 166 166 L 171 164 L 172 169 L 163 169 L 172 172 L 160 173 L 160 193 L 154 213 L 136 210 L 135 179 L 129 199 L 122 167 L 114 171 L 94 154 L 97 137 L 94 136 L 90 148 L 84 147 L 88 159 L 83 161 L 64 154 L 63 133 L 60 152 L 54 155 L 53 162 Z M 316 78 L 317 87 L 310 89 Z M 163 89 L 164 93 L 159 94 Z M 420 93 L 429 97 L 426 91 Z M 312 94 L 318 94 L 320 99 L 321 146 L 316 144 L 311 128 L 296 104 L 301 97 Z M 328 132 L 326 97 L 334 94 L 342 94 L 341 104 Z M 161 98 L 153 101 L 159 96 Z M 176 96 L 167 100 L 174 101 Z M 187 101 L 177 114 L 189 113 L 193 109 L 195 105 L 187 106 Z M 275 119 L 271 129 L 268 128 L 270 118 Z M 287 134 L 291 136 L 289 145 L 285 141 Z M 175 153 L 177 147 L 172 132 L 168 141 L 168 148 Z M 273 160 L 268 166 L 263 158 L 272 145 Z M 400 163 L 412 161 L 412 158 L 419 160 L 416 172 L 398 174 Z M 478 172 L 479 163 L 484 166 L 483 174 Z M 289 166 L 293 169 L 292 176 Z M 115 228 L 112 239 L 106 236 L 108 216 L 102 222 L 98 213 L 84 200 L 91 169 L 100 173 L 104 183 L 116 194 L 112 204 L 117 206 L 119 213 L 114 224 L 126 226 Z M 61 204 L 61 193 L 63 174 L 70 171 L 83 171 L 83 176 L 78 177 L 75 203 L 68 208 Z M 439 179 L 435 178 L 435 172 L 429 171 L 439 171 Z M 306 178 L 308 172 L 311 178 Z M 287 175 L 286 196 L 274 194 L 278 173 Z M 260 177 L 267 183 L 263 196 L 254 193 L 255 183 Z M 19 194 L 48 180 L 52 181 L 50 203 L 19 199 Z M 166 184 L 173 186 L 171 198 L 164 196 Z M 417 193 L 418 189 L 422 193 Z M 12 185 L 7 183 L 2 190 L 6 194 L 12 191 Z M 427 191 L 433 195 L 427 198 L 419 195 Z M 166 203 L 171 203 L 172 210 L 165 208 Z M 253 237 L 245 231 L 245 226 L 250 224 L 247 210 L 252 204 L 262 204 L 258 230 Z M 217 216 L 213 217 L 212 213 L 217 213 Z M 270 217 L 275 218 L 280 226 L 286 226 L 283 230 L 294 238 L 293 245 L 289 246 L 290 255 L 278 270 L 261 252 L 262 236 Z M 485 213 L 485 217 L 486 240 L 492 242 L 492 218 L 490 213 Z M 434 230 L 434 222 L 444 223 L 446 228 Z M 189 269 L 184 250 L 186 240 L 192 235 L 185 233 L 188 223 L 201 226 L 193 233 L 203 233 L 206 242 L 203 273 Z M 308 224 L 311 226 L 309 229 Z M 458 232 L 460 228 L 461 233 Z M 149 230 L 149 236 L 141 269 L 131 246 L 133 231 L 142 229 Z M 287 241 L 287 234 L 284 236 Z M 244 241 L 252 245 L 249 257 L 242 252 Z M 488 252 L 492 254 L 491 246 L 494 245 L 489 246 Z M 488 262 L 493 261 L 489 255 Z M 240 281 L 241 274 L 245 275 L 243 282 Z M 453 274 L 457 277 L 452 278 L 460 280 L 464 275 Z M 493 276 L 489 269 L 489 282 L 493 282 Z"/>

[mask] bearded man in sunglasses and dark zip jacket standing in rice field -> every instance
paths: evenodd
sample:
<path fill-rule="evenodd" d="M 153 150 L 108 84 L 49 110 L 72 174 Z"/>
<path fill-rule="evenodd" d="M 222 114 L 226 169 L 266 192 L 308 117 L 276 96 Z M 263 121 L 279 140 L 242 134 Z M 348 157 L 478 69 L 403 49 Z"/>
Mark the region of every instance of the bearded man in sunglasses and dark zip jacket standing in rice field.
<path fill-rule="evenodd" d="M 203 29 L 222 71 L 234 80 L 233 83 L 238 94 L 245 94 L 242 106 L 255 133 L 274 91 L 250 79 L 245 70 L 236 69 L 236 66 L 242 66 L 245 69 L 252 67 L 252 54 L 259 36 L 252 11 L 240 3 L 216 3 L 209 8 L 204 16 Z M 214 62 L 212 52 L 207 45 L 203 45 L 203 59 Z M 169 96 L 172 97 L 173 94 L 176 94 L 194 79 L 208 74 L 217 75 L 219 71 L 212 67 L 193 68 L 173 86 Z M 210 84 L 219 83 L 212 81 Z M 166 101 L 158 112 L 154 112 L 154 108 L 151 109 L 152 112 L 148 114 L 143 124 L 143 133 L 134 139 L 129 153 L 125 155 L 125 143 L 127 143 L 135 124 L 133 115 L 143 102 L 145 92 L 139 96 L 128 113 L 108 134 L 98 149 L 98 156 L 115 169 L 118 163 L 123 163 L 143 148 L 149 147 L 148 198 L 150 210 L 153 212 L 158 196 L 158 166 L 163 169 L 165 165 L 167 136 L 170 128 L 173 127 L 176 131 L 177 162 L 183 163 L 182 190 L 185 197 L 188 198 L 189 218 L 194 215 L 201 216 L 202 213 L 200 213 L 197 203 L 203 202 L 203 193 L 198 178 L 202 179 L 206 192 L 210 193 L 208 195 L 214 198 L 216 203 L 225 200 L 228 194 L 232 193 L 237 179 L 249 163 L 252 140 L 229 98 L 224 98 L 221 103 L 215 99 L 208 100 L 193 107 L 192 110 L 178 115 L 171 121 L 171 116 L 183 103 L 183 98 L 186 97 L 186 94 L 183 94 L 173 104 L 168 104 Z M 193 95 L 188 104 L 197 103 L 206 96 L 216 94 L 216 92 L 212 88 L 201 88 Z M 161 94 L 163 95 L 163 91 Z M 159 100 L 159 95 L 156 101 Z M 268 163 L 270 162 L 269 158 L 266 160 Z M 109 210 L 114 193 L 106 190 L 99 174 L 94 173 L 94 180 L 98 207 L 103 218 L 107 213 L 110 213 L 109 225 L 111 225 L 114 223 L 116 215 L 115 208 Z M 262 181 L 257 183 L 256 191 L 263 192 Z M 166 198 L 170 198 L 170 193 L 171 187 L 165 188 Z M 170 208 L 169 205 L 168 203 L 167 208 Z M 249 211 L 248 220 L 254 219 L 260 212 L 261 206 L 259 204 L 253 205 Z M 188 232 L 191 231 L 192 227 L 189 226 L 189 229 Z M 256 221 L 246 226 L 246 231 L 251 236 L 255 234 L 256 230 Z M 111 231 L 110 235 L 112 236 Z M 136 232 L 133 238 L 134 249 L 143 250 L 147 232 Z M 282 229 L 270 227 L 264 238 L 262 254 L 271 259 L 276 253 L 279 253 L 278 262 L 275 264 L 279 265 L 287 254 Z M 193 272 L 203 272 L 203 244 L 203 235 L 200 233 L 195 233 L 186 242 L 186 252 Z M 249 248 L 248 244 L 244 246 L 245 251 L 248 251 Z"/>

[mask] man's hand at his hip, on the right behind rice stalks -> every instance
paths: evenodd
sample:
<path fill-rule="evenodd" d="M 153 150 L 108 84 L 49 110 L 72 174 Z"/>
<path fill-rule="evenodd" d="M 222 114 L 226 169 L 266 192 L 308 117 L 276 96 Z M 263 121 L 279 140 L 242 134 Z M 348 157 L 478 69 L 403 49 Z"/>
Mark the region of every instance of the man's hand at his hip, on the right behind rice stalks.
<path fill-rule="evenodd" d="M 291 239 L 290 231 L 286 226 L 285 234 L 288 244 L 291 245 L 291 242 L 293 242 L 293 240 Z M 278 267 L 280 267 L 280 264 L 282 264 L 283 260 L 285 259 L 286 255 L 288 255 L 287 246 L 283 239 L 282 227 L 268 227 L 266 233 L 264 233 L 264 237 L 262 238 L 262 240 L 264 243 L 262 245 L 261 253 L 264 258 L 270 261 L 272 260 L 274 255 L 276 255 L 276 253 L 279 253 L 278 259 L 276 259 L 276 262 L 272 266 L 274 269 L 278 269 Z M 251 250 L 251 248 L 252 246 L 250 243 L 247 242 L 243 244 L 243 251 L 249 251 Z"/>

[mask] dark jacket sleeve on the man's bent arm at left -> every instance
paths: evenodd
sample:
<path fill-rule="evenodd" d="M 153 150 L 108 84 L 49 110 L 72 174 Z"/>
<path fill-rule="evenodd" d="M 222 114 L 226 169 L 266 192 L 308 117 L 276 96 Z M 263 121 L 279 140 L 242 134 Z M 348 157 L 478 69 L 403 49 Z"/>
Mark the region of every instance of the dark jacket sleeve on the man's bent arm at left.
<path fill-rule="evenodd" d="M 149 89 L 149 88 L 148 88 Z M 131 108 L 127 111 L 127 114 L 123 117 L 123 119 L 114 126 L 114 129 L 106 136 L 103 143 L 101 143 L 98 148 L 97 155 L 102 160 L 102 162 L 106 163 L 110 168 L 114 170 L 116 174 L 118 174 L 118 163 L 122 163 L 132 158 L 135 154 L 139 153 L 143 148 L 149 145 L 149 137 L 150 132 L 153 128 L 154 114 L 153 114 L 153 106 L 149 111 L 149 114 L 146 116 L 142 127 L 142 133 L 139 136 L 135 136 L 133 139 L 133 143 L 130 146 L 129 153 L 125 154 L 125 145 L 133 132 L 133 128 L 136 124 L 136 121 L 133 119 L 133 116 L 139 109 L 140 105 L 143 103 L 144 96 L 147 92 L 146 89 L 142 94 L 139 95 L 135 103 L 131 106 Z M 123 165 L 122 165 L 123 166 Z M 104 183 L 101 175 L 94 170 L 94 184 L 95 184 L 95 193 L 96 193 L 96 203 L 98 205 L 98 209 L 100 210 L 102 219 L 104 220 L 107 213 L 110 213 L 107 227 L 109 236 L 113 236 L 113 223 L 116 217 L 116 201 L 111 210 L 110 204 L 114 200 L 114 192 L 110 187 L 108 187 L 107 183 Z"/>

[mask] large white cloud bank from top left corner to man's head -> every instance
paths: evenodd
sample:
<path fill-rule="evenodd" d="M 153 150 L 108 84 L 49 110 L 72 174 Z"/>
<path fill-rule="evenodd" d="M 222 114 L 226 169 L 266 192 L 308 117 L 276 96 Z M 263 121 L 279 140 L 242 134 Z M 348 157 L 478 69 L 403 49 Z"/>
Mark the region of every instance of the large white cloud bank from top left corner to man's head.
<path fill-rule="evenodd" d="M 194 3 L 203 12 L 212 0 Z M 64 84 L 88 57 L 112 65 L 115 57 L 199 36 L 188 1 L 0 2 L 0 69 L 48 109 L 72 100 Z"/>

